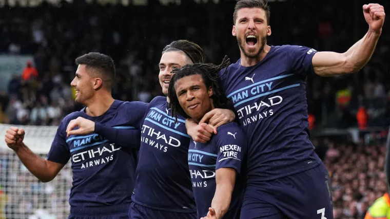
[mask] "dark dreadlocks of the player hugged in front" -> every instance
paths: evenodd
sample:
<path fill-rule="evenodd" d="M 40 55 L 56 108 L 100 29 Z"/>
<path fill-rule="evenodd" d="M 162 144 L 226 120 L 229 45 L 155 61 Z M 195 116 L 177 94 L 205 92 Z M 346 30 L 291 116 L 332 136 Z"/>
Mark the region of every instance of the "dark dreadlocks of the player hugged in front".
<path fill-rule="evenodd" d="M 168 97 L 169 97 L 169 106 L 172 109 L 172 117 L 175 118 L 175 122 L 178 120 L 178 114 L 186 118 L 189 116 L 184 112 L 183 108 L 180 106 L 179 99 L 176 96 L 176 91 L 174 89 L 175 83 L 186 76 L 190 75 L 201 75 L 202 79 L 206 85 L 206 88 L 211 86 L 213 95 L 211 96 L 214 107 L 216 108 L 227 108 L 229 99 L 226 97 L 222 89 L 218 84 L 218 73 L 222 69 L 227 69 L 230 64 L 230 59 L 225 56 L 222 60 L 222 63 L 219 65 L 215 64 L 186 64 L 181 69 L 172 70 L 173 76 L 169 83 L 168 88 Z"/>

